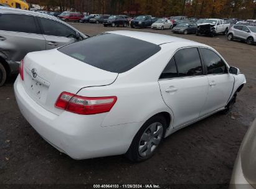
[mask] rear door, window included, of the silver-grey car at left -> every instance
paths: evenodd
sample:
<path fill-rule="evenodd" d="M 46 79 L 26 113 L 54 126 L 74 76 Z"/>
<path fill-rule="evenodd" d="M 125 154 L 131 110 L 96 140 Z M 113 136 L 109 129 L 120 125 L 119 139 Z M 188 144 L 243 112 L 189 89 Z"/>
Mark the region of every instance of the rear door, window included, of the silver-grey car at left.
<path fill-rule="evenodd" d="M 45 50 L 45 39 L 34 16 L 0 14 L 0 50 L 16 62 L 29 52 Z"/>

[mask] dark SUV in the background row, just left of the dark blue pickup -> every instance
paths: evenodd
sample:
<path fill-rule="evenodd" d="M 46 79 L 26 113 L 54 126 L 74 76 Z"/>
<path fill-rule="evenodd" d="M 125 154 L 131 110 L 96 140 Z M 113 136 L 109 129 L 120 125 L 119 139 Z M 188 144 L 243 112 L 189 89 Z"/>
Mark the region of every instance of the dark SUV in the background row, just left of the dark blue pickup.
<path fill-rule="evenodd" d="M 102 24 L 104 27 L 107 27 L 108 25 L 111 25 L 112 27 L 115 27 L 116 25 L 123 25 L 123 27 L 127 27 L 129 21 L 127 16 L 113 15 L 108 17 L 108 19 L 105 19 Z"/>

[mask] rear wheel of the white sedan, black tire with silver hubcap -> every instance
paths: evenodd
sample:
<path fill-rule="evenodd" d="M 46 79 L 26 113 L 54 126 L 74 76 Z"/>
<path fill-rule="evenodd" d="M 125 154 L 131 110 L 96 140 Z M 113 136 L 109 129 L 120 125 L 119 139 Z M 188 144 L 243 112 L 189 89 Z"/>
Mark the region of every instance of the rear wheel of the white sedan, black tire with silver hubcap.
<path fill-rule="evenodd" d="M 162 115 L 158 114 L 148 119 L 133 138 L 126 157 L 133 162 L 151 158 L 163 141 L 165 131 L 166 119 Z"/>

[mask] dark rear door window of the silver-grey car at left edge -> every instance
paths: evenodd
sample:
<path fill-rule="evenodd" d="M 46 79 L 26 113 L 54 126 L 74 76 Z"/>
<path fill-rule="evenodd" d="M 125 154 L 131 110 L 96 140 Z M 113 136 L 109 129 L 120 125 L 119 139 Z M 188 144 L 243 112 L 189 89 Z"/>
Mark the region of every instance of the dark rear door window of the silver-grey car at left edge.
<path fill-rule="evenodd" d="M 0 30 L 40 34 L 33 16 L 22 14 L 0 14 Z M 15 24 L 14 24 L 15 23 Z"/>

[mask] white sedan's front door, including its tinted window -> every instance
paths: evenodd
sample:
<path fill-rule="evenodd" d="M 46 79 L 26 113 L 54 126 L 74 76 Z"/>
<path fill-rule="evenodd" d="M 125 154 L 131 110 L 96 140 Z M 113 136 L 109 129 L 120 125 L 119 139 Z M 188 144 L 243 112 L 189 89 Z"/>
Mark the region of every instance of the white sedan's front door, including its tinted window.
<path fill-rule="evenodd" d="M 208 95 L 200 116 L 224 108 L 234 86 L 234 75 L 228 73 L 227 65 L 216 52 L 200 48 L 208 79 Z"/>

